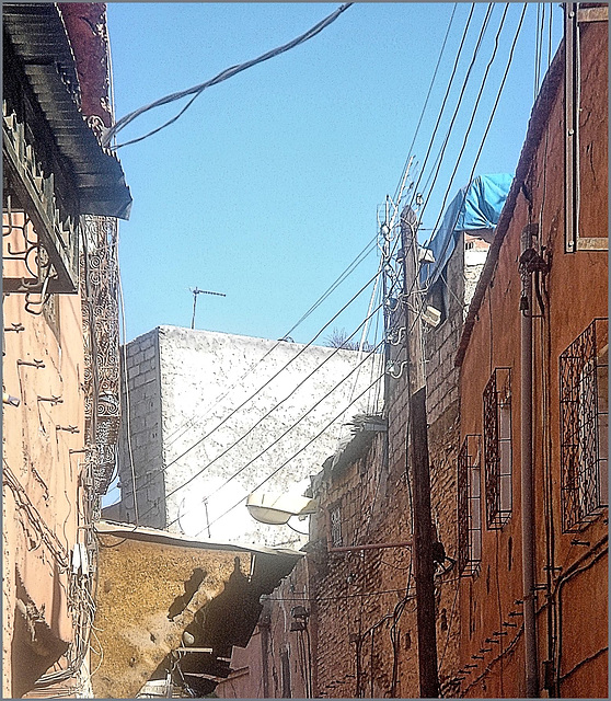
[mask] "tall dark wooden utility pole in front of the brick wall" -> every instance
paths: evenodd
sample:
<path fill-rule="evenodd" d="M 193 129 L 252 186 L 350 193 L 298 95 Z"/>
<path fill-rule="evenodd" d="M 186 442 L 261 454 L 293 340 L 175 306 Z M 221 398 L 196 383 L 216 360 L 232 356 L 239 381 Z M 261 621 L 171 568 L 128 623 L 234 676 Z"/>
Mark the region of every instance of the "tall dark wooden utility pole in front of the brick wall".
<path fill-rule="evenodd" d="M 404 265 L 405 348 L 408 358 L 410 422 L 406 470 L 412 478 L 414 508 L 414 576 L 418 628 L 418 677 L 422 699 L 439 697 L 435 625 L 435 566 L 426 416 L 426 376 L 423 358 L 418 286 L 417 218 L 410 208 L 401 215 Z"/>

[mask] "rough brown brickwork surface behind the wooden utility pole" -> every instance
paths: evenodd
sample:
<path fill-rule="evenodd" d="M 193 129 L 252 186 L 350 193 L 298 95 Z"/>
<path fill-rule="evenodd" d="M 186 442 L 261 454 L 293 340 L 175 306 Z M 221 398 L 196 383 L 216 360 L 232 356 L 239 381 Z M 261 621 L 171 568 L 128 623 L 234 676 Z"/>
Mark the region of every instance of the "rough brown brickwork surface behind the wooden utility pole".
<path fill-rule="evenodd" d="M 448 265 L 447 320 L 426 333 L 429 393 L 429 458 L 433 520 L 447 554 L 456 559 L 457 452 L 459 444 L 458 375 L 453 359 L 463 320 L 464 254 L 462 237 Z M 399 369 L 404 352 L 393 348 Z M 394 357 L 396 356 L 396 357 Z M 417 698 L 418 656 L 415 584 L 411 549 L 395 547 L 334 552 L 331 512 L 339 509 L 342 545 L 399 543 L 412 538 L 411 485 L 406 472 L 408 421 L 406 375 L 390 382 L 388 435 L 361 446 L 351 462 L 327 460 L 313 479 L 320 502 L 312 516 L 308 555 L 270 596 L 267 646 L 270 697 L 283 696 L 289 657 L 293 697 L 304 691 L 311 666 L 314 696 L 321 698 Z M 449 566 L 449 562 L 446 563 Z M 440 683 L 447 696 L 459 666 L 460 635 L 456 568 L 440 571 L 435 582 Z M 300 635 L 290 631 L 291 608 L 309 611 L 310 655 L 303 660 Z M 261 645 L 258 639 L 254 645 Z M 256 658 L 260 647 L 246 658 Z M 242 658 L 241 658 L 242 659 Z M 243 696 L 257 696 L 254 673 L 241 677 Z M 286 691 L 286 689 L 285 689 Z M 227 693 L 226 693 L 227 692 Z M 217 689 L 231 696 L 229 688 Z M 258 693 L 261 696 L 261 693 Z"/>

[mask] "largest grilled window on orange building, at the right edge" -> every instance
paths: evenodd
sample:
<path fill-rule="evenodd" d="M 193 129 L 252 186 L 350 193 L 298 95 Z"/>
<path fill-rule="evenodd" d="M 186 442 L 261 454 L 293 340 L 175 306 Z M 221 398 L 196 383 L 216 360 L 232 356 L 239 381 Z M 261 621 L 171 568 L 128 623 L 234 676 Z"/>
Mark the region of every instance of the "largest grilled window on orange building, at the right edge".
<path fill-rule="evenodd" d="M 609 505 L 609 320 L 595 319 L 560 356 L 563 530 Z"/>

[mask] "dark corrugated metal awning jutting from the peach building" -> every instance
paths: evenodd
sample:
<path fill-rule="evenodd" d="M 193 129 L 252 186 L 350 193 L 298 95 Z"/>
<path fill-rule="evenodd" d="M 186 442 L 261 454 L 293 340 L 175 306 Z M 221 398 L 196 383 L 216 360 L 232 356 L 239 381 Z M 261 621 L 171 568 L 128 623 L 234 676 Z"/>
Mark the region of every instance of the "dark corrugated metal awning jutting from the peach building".
<path fill-rule="evenodd" d="M 72 165 L 81 214 L 127 219 L 131 195 L 119 160 L 103 149 L 80 110 L 74 56 L 56 3 L 2 5 L 13 45 L 60 153 Z"/>

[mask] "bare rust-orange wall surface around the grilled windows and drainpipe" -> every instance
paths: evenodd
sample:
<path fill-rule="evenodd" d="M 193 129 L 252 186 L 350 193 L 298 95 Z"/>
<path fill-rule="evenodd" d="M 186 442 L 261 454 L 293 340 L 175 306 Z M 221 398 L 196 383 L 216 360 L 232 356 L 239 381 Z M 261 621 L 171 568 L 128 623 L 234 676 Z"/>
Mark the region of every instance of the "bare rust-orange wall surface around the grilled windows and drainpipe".
<path fill-rule="evenodd" d="M 580 227 L 587 235 L 604 237 L 608 233 L 607 23 L 585 25 L 581 47 Z M 533 120 L 538 118 L 535 112 Z M 533 467 L 535 579 L 540 587 L 537 597 L 540 685 L 543 687 L 545 683 L 542 664 L 549 660 L 555 669 L 554 681 L 560 681 L 563 697 L 599 698 L 607 697 L 608 692 L 607 675 L 601 674 L 607 664 L 607 513 L 578 537 L 562 532 L 558 394 L 560 354 L 596 317 L 607 317 L 608 254 L 607 251 L 565 253 L 563 123 L 561 84 L 546 124 L 540 125 L 541 140 L 535 154 L 529 163 L 524 163 L 528 166 L 524 187 L 517 197 L 461 368 L 462 436 L 482 434 L 482 394 L 494 368 L 510 367 L 512 372 L 512 513 L 502 530 L 487 530 L 484 527 L 480 572 L 463 579 L 460 588 L 460 614 L 464 622 L 460 693 L 474 698 L 522 697 L 526 693 L 520 616 L 521 367 L 518 258 L 520 233 L 531 221 L 540 223 L 540 235 L 534 245 L 551 265 L 544 284 L 547 290 L 544 295 L 544 318 L 533 320 Z M 531 122 L 531 128 L 537 131 L 537 124 Z M 533 138 L 532 131 L 530 134 Z M 540 313 L 538 307 L 533 313 Z M 556 567 L 550 589 L 546 586 L 547 572 L 551 572 L 547 567 Z M 502 635 L 498 635 L 499 631 Z M 489 642 L 491 639 L 493 642 Z M 465 670 L 468 664 L 473 667 Z"/>

